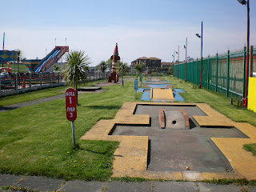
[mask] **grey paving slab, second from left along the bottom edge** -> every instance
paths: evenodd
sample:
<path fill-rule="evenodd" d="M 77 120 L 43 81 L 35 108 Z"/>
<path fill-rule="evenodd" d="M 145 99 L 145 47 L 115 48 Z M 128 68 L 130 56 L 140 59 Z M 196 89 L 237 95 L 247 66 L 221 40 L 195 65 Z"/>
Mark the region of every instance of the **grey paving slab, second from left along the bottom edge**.
<path fill-rule="evenodd" d="M 15 186 L 22 186 L 26 189 L 53 191 L 57 190 L 62 185 L 62 179 L 56 178 L 42 178 L 37 176 L 29 176 L 22 178 Z"/>

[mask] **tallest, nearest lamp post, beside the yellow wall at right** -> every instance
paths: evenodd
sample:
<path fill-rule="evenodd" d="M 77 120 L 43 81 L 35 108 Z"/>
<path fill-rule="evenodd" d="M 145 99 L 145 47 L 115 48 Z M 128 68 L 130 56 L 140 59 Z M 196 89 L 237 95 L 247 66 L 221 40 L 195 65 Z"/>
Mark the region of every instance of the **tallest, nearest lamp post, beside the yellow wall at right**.
<path fill-rule="evenodd" d="M 250 6 L 249 0 L 238 0 L 242 5 L 247 6 L 247 49 L 246 49 L 246 93 L 243 98 L 243 106 L 247 106 L 248 76 L 249 76 L 249 46 L 250 46 Z"/>

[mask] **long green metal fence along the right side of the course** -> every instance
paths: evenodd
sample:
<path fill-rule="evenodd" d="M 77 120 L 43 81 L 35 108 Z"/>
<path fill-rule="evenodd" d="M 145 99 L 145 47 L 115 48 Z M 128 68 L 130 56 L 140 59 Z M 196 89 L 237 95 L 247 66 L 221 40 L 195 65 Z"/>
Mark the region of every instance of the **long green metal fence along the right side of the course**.
<path fill-rule="evenodd" d="M 256 50 L 252 52 L 251 76 L 256 77 Z M 243 51 L 202 59 L 202 87 L 226 97 L 245 97 L 246 47 Z M 201 60 L 174 65 L 174 77 L 200 85 Z"/>

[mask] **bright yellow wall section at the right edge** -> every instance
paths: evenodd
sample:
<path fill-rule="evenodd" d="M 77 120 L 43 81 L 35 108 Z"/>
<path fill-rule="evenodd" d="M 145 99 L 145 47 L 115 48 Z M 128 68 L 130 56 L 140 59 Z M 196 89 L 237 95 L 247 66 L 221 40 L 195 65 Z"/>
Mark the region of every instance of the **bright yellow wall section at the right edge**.
<path fill-rule="evenodd" d="M 249 78 L 248 85 L 248 110 L 253 110 L 256 113 L 256 78 Z"/>

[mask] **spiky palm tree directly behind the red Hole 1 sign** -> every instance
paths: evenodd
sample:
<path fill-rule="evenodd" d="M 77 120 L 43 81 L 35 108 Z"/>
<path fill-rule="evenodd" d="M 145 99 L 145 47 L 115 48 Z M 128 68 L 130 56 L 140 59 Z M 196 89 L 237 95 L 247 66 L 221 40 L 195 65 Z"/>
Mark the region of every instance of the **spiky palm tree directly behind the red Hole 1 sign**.
<path fill-rule="evenodd" d="M 75 86 L 76 98 L 78 103 L 78 80 L 86 79 L 86 68 L 91 63 L 88 55 L 84 56 L 82 50 L 71 50 L 66 54 L 66 65 L 63 66 L 63 79 L 66 84 Z"/>

